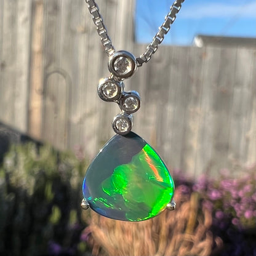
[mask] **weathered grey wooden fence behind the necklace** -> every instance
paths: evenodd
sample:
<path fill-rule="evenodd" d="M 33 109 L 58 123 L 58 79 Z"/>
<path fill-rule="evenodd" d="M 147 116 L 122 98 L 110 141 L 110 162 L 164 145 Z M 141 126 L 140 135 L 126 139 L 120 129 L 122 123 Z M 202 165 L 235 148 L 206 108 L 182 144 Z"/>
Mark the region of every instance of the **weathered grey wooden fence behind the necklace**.
<path fill-rule="evenodd" d="M 142 54 L 134 1 L 98 4 L 116 49 Z M 84 0 L 0 0 L 0 121 L 92 158 L 119 112 L 97 95 L 107 62 Z M 256 162 L 256 48 L 161 46 L 125 83 L 142 98 L 134 131 L 170 167 Z"/>

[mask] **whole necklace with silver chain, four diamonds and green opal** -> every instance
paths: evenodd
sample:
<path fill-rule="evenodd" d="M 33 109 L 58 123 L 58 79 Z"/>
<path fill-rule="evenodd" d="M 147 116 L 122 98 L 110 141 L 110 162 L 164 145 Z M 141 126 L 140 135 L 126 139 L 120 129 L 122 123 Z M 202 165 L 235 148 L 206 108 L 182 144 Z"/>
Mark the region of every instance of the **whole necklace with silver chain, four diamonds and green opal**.
<path fill-rule="evenodd" d="M 97 154 L 87 169 L 82 185 L 82 209 L 116 220 L 140 221 L 153 218 L 164 209 L 174 210 L 174 181 L 156 151 L 131 132 L 132 114 L 140 108 L 140 96 L 125 91 L 124 79 L 148 62 L 170 30 L 184 0 L 170 7 L 146 51 L 135 58 L 126 50 L 114 50 L 95 0 L 86 0 L 92 20 L 109 56 L 110 76 L 98 84 L 98 95 L 105 102 L 118 103 L 121 113 L 112 122 L 116 135 Z"/>

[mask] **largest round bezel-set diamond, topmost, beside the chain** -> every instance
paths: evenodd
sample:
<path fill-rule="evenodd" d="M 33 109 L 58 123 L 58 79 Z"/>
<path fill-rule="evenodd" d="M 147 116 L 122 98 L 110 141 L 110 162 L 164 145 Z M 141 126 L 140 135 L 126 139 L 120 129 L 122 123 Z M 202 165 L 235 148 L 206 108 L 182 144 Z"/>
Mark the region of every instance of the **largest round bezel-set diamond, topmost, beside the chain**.
<path fill-rule="evenodd" d="M 116 78 L 130 78 L 137 70 L 136 58 L 126 50 L 119 50 L 111 55 L 108 70 Z"/>

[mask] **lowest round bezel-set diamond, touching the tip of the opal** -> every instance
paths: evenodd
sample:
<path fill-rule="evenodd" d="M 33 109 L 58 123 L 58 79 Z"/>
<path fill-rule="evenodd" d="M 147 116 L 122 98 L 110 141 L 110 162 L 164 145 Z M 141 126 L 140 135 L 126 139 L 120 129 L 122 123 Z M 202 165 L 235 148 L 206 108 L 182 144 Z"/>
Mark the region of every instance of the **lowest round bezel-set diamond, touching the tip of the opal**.
<path fill-rule="evenodd" d="M 129 134 L 130 130 L 132 130 L 132 118 L 126 113 L 118 114 L 114 117 L 112 127 L 116 134 Z"/>

